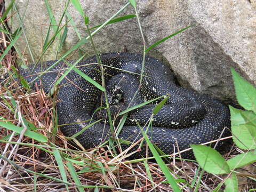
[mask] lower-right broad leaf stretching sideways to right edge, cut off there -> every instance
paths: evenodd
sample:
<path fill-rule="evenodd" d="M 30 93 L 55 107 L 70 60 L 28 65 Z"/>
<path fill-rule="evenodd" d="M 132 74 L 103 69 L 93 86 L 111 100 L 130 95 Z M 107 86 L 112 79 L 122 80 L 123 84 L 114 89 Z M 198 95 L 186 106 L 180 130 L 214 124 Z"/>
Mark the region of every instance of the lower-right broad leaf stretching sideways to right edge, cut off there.
<path fill-rule="evenodd" d="M 231 170 L 256 162 L 256 151 L 236 155 L 228 159 L 227 163 Z"/>

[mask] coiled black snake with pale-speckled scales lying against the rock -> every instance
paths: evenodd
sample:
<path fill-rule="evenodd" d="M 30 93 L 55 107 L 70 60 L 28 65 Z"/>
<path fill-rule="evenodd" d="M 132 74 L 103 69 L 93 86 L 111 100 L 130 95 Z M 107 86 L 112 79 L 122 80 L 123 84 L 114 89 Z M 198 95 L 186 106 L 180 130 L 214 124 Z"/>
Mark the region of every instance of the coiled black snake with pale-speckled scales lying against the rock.
<path fill-rule="evenodd" d="M 153 126 L 147 132 L 150 140 L 163 153 L 172 154 L 177 152 L 177 143 L 179 150 L 183 150 L 189 148 L 189 144 L 192 143 L 200 144 L 218 139 L 224 127 L 230 127 L 230 113 L 227 106 L 207 95 L 198 94 L 177 86 L 173 81 L 170 69 L 162 62 L 146 56 L 140 91 L 132 99 L 139 87 L 142 55 L 105 53 L 100 54 L 100 60 L 103 65 L 108 102 L 113 119 L 119 111 L 127 107 L 138 105 L 162 95 L 169 95 L 163 108 L 153 117 Z M 44 62 L 42 66 L 35 68 L 33 74 L 40 73 L 54 62 L 56 61 Z M 74 63 L 75 61 L 69 62 Z M 96 57 L 79 61 L 77 66 L 82 66 L 78 69 L 94 81 L 99 84 L 102 83 L 100 67 Z M 29 66 L 30 69 L 33 67 Z M 52 84 L 61 73 L 65 72 L 65 68 L 67 68 L 67 65 L 63 61 L 59 62 L 49 73 L 45 73 L 38 78 L 33 86 L 35 86 L 35 83 L 42 84 L 43 89 L 49 92 Z M 24 72 L 22 75 L 25 76 L 28 82 L 36 77 L 35 75 L 28 76 L 28 72 Z M 70 137 L 81 131 L 83 127 L 89 124 L 89 122 L 84 122 L 85 120 L 92 118 L 90 121 L 92 123 L 97 118 L 103 119 L 77 136 L 76 139 L 86 149 L 97 147 L 113 136 L 108 121 L 106 121 L 106 110 L 102 109 L 94 113 L 95 109 L 105 105 L 106 101 L 101 98 L 102 92 L 74 70 L 71 70 L 60 83 L 58 92 L 60 102 L 57 103 L 57 113 L 58 124 L 62 125 L 60 127 L 63 134 Z M 146 131 L 147 126 L 144 125 L 150 118 L 156 103 L 150 103 L 131 111 L 121 132 L 118 134 L 118 138 L 131 142 L 141 139 L 141 127 Z M 114 129 L 117 123 L 118 118 L 114 124 Z M 225 135 L 227 135 L 226 131 L 222 136 Z M 222 142 L 219 142 L 219 147 L 222 144 Z M 122 149 L 126 149 L 130 145 L 125 143 L 121 146 Z M 137 148 L 135 146 L 131 150 Z M 149 155 L 151 155 L 150 152 Z M 130 158 L 141 158 L 142 156 L 146 156 L 145 145 L 142 145 L 141 150 L 131 155 Z M 194 158 L 193 152 L 191 150 L 186 151 L 182 153 L 182 157 Z"/>

